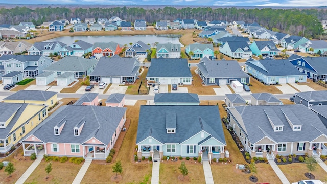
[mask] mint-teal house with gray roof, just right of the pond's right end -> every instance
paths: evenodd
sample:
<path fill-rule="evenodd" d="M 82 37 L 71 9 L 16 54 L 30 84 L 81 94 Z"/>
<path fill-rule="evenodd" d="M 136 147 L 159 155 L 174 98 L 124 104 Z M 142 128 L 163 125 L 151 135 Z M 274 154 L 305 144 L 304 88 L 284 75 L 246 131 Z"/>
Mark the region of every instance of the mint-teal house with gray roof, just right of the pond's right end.
<path fill-rule="evenodd" d="M 188 46 L 186 46 L 185 52 L 190 55 L 191 51 L 193 52 L 193 55 L 190 56 L 191 59 L 201 59 L 204 57 L 209 58 L 210 56 L 214 56 L 213 44 L 189 44 Z"/>

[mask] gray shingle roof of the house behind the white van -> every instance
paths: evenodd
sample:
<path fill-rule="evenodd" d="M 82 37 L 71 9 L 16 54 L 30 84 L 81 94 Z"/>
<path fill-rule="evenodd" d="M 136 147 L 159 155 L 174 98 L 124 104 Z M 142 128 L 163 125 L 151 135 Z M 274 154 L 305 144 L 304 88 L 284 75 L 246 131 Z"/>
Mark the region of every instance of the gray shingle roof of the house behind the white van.
<path fill-rule="evenodd" d="M 202 60 L 197 67 L 202 72 L 205 77 L 250 77 L 247 75 L 240 64 L 235 61 L 226 61 L 226 60 Z"/>

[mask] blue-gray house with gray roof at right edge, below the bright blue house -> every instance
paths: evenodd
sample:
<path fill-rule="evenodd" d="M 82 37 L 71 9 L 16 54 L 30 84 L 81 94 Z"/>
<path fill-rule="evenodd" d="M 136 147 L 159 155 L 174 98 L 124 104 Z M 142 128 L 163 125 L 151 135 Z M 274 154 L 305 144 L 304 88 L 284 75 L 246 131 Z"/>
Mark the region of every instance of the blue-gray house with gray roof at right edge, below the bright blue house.
<path fill-rule="evenodd" d="M 327 105 L 327 91 L 305 91 L 295 93 L 294 103 L 306 107 L 314 105 Z"/>

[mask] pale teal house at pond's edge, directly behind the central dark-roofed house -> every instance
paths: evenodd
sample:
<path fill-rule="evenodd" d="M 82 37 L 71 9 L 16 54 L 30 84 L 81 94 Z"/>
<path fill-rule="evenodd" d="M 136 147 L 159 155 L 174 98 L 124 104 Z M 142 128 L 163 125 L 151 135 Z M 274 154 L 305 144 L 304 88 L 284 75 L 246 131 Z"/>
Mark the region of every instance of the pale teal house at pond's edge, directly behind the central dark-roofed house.
<path fill-rule="evenodd" d="M 165 43 L 157 44 L 157 58 L 180 58 L 180 44 Z"/>

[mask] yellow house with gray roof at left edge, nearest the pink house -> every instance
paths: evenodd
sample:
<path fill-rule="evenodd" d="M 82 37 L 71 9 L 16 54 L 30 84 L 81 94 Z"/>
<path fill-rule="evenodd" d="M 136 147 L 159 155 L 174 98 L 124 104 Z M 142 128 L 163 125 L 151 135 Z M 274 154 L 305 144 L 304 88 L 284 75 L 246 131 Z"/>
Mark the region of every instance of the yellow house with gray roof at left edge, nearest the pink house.
<path fill-rule="evenodd" d="M 46 107 L 41 104 L 0 103 L 0 153 L 8 152 L 48 117 Z"/>

